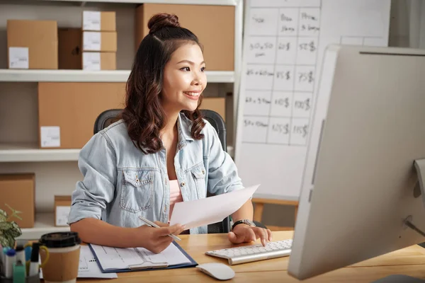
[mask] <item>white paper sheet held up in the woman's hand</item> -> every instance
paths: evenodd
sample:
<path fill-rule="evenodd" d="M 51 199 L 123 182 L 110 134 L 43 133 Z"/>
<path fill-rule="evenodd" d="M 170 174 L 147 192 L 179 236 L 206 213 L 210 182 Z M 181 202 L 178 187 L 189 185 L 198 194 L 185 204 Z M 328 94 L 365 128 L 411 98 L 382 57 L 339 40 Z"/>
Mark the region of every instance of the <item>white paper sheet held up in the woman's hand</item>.
<path fill-rule="evenodd" d="M 171 214 L 170 226 L 183 224 L 187 229 L 220 222 L 249 200 L 259 185 L 226 194 L 190 202 L 177 202 Z"/>

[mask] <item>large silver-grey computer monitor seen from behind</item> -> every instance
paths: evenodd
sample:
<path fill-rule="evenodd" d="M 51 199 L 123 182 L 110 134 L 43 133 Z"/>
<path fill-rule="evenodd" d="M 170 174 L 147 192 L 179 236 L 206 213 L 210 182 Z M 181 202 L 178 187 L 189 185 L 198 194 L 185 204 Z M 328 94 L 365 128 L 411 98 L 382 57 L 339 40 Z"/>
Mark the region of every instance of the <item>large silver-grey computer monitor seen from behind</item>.
<path fill-rule="evenodd" d="M 425 50 L 331 45 L 321 71 L 288 265 L 297 279 L 425 241 L 406 225 L 425 231 L 414 166 Z"/>

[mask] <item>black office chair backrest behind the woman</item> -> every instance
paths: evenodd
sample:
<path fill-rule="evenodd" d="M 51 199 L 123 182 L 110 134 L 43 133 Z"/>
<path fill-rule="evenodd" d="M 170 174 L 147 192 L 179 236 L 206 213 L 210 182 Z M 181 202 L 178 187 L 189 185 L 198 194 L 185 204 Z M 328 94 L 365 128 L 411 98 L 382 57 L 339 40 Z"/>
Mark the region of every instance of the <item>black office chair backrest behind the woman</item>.
<path fill-rule="evenodd" d="M 117 120 L 117 116 L 122 109 L 109 109 L 101 112 L 94 122 L 94 134 L 105 129 Z M 208 120 L 218 134 L 224 151 L 227 151 L 226 143 L 226 125 L 220 114 L 212 110 L 200 110 L 205 120 Z M 210 196 L 210 195 L 208 195 Z M 223 221 L 208 225 L 208 233 L 228 233 L 230 231 L 230 217 L 227 216 Z"/>

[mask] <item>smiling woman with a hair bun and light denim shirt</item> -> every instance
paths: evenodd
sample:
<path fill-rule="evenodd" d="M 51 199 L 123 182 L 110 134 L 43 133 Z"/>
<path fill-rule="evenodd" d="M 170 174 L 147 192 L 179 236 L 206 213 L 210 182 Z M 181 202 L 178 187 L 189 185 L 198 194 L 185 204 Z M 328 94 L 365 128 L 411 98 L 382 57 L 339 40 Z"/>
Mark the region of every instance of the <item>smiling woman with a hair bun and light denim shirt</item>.
<path fill-rule="evenodd" d="M 166 224 L 174 203 L 243 186 L 198 109 L 207 85 L 198 38 L 174 15 L 157 14 L 148 28 L 128 79 L 122 119 L 81 149 L 84 180 L 72 194 L 69 224 L 87 243 L 159 253 L 173 240 L 169 233 L 185 230 Z M 162 227 L 142 225 L 138 216 Z M 251 200 L 232 214 L 234 221 L 252 216 Z M 207 233 L 207 227 L 190 233 Z M 261 238 L 265 244 L 271 231 L 238 224 L 228 237 L 232 243 Z"/>

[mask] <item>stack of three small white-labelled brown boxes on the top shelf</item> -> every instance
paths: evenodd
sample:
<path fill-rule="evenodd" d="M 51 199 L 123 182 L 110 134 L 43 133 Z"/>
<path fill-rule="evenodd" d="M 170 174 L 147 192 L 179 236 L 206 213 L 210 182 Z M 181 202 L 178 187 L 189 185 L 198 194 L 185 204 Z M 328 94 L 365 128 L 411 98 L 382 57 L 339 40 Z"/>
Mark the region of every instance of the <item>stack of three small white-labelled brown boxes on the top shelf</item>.
<path fill-rule="evenodd" d="M 115 12 L 83 11 L 82 18 L 82 69 L 115 70 Z"/>

